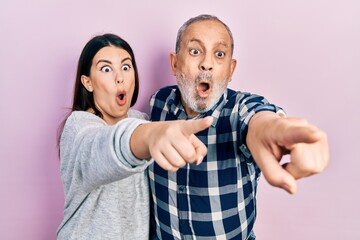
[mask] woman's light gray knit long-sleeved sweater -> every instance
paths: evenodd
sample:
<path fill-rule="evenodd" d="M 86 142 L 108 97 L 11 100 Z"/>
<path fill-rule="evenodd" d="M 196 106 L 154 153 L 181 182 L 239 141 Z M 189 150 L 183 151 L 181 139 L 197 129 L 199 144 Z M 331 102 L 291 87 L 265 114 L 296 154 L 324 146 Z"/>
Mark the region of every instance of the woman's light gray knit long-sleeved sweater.
<path fill-rule="evenodd" d="M 148 239 L 149 187 L 145 169 L 151 161 L 130 150 L 134 129 L 146 115 L 108 126 L 84 111 L 73 112 L 60 140 L 64 219 L 57 239 Z"/>

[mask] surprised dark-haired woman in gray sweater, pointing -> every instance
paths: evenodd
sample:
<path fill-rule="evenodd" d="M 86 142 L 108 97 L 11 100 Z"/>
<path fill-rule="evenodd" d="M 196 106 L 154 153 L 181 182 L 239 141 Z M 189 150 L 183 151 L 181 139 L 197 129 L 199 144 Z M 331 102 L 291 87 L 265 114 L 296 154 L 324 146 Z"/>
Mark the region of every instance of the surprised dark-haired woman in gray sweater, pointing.
<path fill-rule="evenodd" d="M 206 154 L 193 133 L 211 119 L 149 123 L 130 109 L 138 92 L 129 44 L 113 34 L 92 38 L 80 55 L 59 140 L 65 207 L 58 239 L 148 239 L 145 169 L 152 161 L 143 159 L 176 171 Z"/>

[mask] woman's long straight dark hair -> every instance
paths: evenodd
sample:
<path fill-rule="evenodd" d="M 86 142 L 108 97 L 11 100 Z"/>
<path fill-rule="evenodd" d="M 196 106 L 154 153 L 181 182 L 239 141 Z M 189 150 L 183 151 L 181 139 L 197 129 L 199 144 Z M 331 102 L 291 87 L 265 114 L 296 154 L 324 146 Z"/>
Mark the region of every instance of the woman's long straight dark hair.
<path fill-rule="evenodd" d="M 130 45 L 122 38 L 115 34 L 107 33 L 104 35 L 98 35 L 93 37 L 83 48 L 78 66 L 77 66 L 77 73 L 75 78 L 75 86 L 74 86 L 74 97 L 73 97 L 73 105 L 71 108 L 71 111 L 87 111 L 88 109 L 92 109 L 95 113 L 95 115 L 99 117 L 103 117 L 99 109 L 96 108 L 93 93 L 86 90 L 84 85 L 81 82 L 81 76 L 90 76 L 90 69 L 92 65 L 92 61 L 94 56 L 97 52 L 100 51 L 100 49 L 107 47 L 107 46 L 115 46 L 119 47 L 121 49 L 124 49 L 126 52 L 128 52 L 131 56 L 131 62 L 134 68 L 135 72 L 135 89 L 134 93 L 131 99 L 131 107 L 134 106 L 134 104 L 137 101 L 138 95 L 139 95 L 139 74 L 136 66 L 135 61 L 135 55 L 130 47 Z M 70 113 L 69 113 L 70 115 Z M 68 115 L 68 116 L 69 116 Z M 67 116 L 67 117 L 68 117 Z M 60 144 L 60 137 L 61 133 L 64 129 L 64 125 L 66 122 L 66 119 L 61 123 L 58 131 L 58 146 Z"/>

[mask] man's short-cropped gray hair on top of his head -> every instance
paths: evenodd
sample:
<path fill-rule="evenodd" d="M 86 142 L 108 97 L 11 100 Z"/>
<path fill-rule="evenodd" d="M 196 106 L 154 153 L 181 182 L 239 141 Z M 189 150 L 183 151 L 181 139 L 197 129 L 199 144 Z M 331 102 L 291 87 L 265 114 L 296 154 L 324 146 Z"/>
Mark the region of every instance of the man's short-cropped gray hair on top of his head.
<path fill-rule="evenodd" d="M 205 21 L 205 20 L 217 21 L 217 22 L 221 23 L 222 25 L 224 25 L 224 27 L 225 27 L 226 30 L 228 31 L 229 36 L 230 36 L 230 39 L 231 39 L 231 54 L 233 53 L 233 51 L 234 51 L 234 39 L 233 39 L 232 33 L 231 33 L 231 31 L 230 31 L 230 28 L 229 28 L 223 21 L 221 21 L 219 18 L 217 18 L 216 16 L 208 15 L 208 14 L 202 14 L 202 15 L 199 15 L 199 16 L 197 16 L 197 17 L 190 18 L 189 20 L 187 20 L 187 21 L 179 28 L 179 31 L 178 31 L 178 34 L 177 34 L 177 37 L 176 37 L 176 46 L 175 46 L 176 54 L 180 51 L 180 43 L 181 43 L 181 40 L 182 40 L 182 37 L 183 37 L 183 34 L 184 34 L 185 30 L 186 30 L 192 23 L 201 22 L 201 21 Z"/>

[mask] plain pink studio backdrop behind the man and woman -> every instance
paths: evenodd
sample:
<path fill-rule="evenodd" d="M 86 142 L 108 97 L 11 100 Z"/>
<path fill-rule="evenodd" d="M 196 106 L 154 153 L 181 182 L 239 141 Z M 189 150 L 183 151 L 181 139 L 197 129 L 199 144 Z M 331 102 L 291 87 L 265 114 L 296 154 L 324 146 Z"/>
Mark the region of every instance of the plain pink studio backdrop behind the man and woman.
<path fill-rule="evenodd" d="M 290 196 L 264 179 L 258 239 L 360 239 L 360 4 L 354 0 L 5 1 L 0 8 L 0 239 L 55 239 L 64 202 L 56 131 L 71 104 L 78 56 L 95 34 L 134 48 L 135 108 L 148 112 L 177 29 L 215 14 L 232 29 L 231 87 L 267 96 L 327 131 L 331 162 Z"/>

